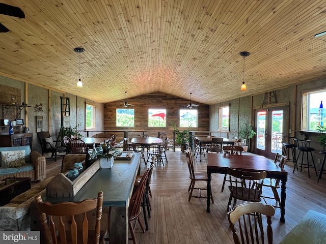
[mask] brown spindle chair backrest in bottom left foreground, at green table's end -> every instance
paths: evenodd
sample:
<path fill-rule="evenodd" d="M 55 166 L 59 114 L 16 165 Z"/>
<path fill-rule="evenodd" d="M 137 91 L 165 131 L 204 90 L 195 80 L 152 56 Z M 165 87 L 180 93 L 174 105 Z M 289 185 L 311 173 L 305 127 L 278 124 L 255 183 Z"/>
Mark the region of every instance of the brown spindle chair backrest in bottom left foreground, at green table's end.
<path fill-rule="evenodd" d="M 103 204 L 103 192 L 97 194 L 97 198 L 85 199 L 82 202 L 61 202 L 57 204 L 52 204 L 50 202 L 43 202 L 40 195 L 35 197 L 36 208 L 39 212 L 40 222 L 43 228 L 43 233 L 45 237 L 45 243 L 58 243 L 58 239 L 61 240 L 60 243 L 66 243 L 64 240 L 71 239 L 71 243 L 87 243 L 89 234 L 89 224 L 87 219 L 87 212 L 96 209 L 96 219 L 95 219 L 95 231 L 94 239 L 91 243 L 99 243 L 100 241 L 100 227 L 102 218 L 102 204 Z M 80 218 L 77 215 L 83 214 Z M 69 218 L 69 224 L 66 222 L 66 218 Z M 82 223 L 79 223 L 80 222 Z M 77 224 L 78 222 L 78 224 Z M 56 226 L 56 223 L 58 225 Z M 66 230 L 70 227 L 70 233 L 67 236 Z M 79 234 L 82 233 L 82 234 Z M 92 235 L 93 236 L 93 235 Z M 80 238 L 82 241 L 80 241 Z"/>

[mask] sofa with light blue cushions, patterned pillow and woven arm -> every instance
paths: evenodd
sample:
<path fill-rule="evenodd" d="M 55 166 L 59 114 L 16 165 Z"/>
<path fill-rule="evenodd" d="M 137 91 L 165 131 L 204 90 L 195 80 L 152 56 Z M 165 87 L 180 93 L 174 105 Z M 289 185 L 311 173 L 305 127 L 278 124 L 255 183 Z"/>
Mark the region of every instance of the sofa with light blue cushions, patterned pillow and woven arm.
<path fill-rule="evenodd" d="M 46 160 L 30 146 L 0 147 L 0 179 L 7 177 L 46 178 Z"/>

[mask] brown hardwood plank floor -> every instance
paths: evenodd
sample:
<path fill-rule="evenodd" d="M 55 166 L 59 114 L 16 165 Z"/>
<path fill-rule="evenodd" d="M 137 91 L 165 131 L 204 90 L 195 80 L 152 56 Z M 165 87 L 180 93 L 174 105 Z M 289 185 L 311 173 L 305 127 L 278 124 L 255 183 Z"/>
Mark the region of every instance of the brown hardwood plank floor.
<path fill-rule="evenodd" d="M 148 222 L 149 230 L 144 234 L 139 226 L 137 227 L 135 232 L 138 243 L 233 243 L 226 215 L 229 191 L 225 189 L 221 192 L 224 175 L 212 175 L 214 204 L 210 205 L 211 211 L 207 213 L 206 199 L 192 198 L 188 202 L 190 180 L 184 153 L 167 151 L 167 157 L 169 163 L 165 163 L 165 167 L 155 165 L 151 184 L 153 197 L 150 199 L 152 210 Z M 58 158 L 57 162 L 48 160 L 47 176 L 61 171 L 61 159 Z M 143 173 L 143 161 L 141 165 Z M 206 170 L 206 158 L 203 158 L 202 162 L 196 161 L 196 169 Z M 285 223 L 280 222 L 280 209 L 276 208 L 272 219 L 274 243 L 279 243 L 309 209 L 326 214 L 326 175 L 317 184 L 317 176 L 311 175 L 311 178 L 308 178 L 305 169 L 303 172 L 295 171 L 292 174 L 292 163 L 285 165 L 284 169 L 288 171 Z M 206 187 L 204 183 L 202 187 Z M 202 191 L 202 194 L 206 195 L 206 191 Z M 264 195 L 271 194 L 271 191 L 264 191 Z M 274 204 L 273 200 L 268 203 Z M 144 223 L 143 215 L 141 220 Z"/>

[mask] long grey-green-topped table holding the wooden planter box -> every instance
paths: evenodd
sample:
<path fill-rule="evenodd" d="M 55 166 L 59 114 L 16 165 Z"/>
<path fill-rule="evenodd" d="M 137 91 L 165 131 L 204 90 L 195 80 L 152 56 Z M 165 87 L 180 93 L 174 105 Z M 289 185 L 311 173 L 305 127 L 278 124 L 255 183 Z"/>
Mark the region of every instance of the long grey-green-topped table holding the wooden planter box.
<path fill-rule="evenodd" d="M 95 139 L 95 138 L 94 138 Z M 79 202 L 87 198 L 96 198 L 103 192 L 103 208 L 111 207 L 110 212 L 110 244 L 128 244 L 128 208 L 134 181 L 140 167 L 141 153 L 134 153 L 131 160 L 114 161 L 111 169 L 99 169 L 72 197 L 56 197 L 42 199 L 52 203 L 69 201 Z M 103 220 L 101 223 L 103 223 Z"/>

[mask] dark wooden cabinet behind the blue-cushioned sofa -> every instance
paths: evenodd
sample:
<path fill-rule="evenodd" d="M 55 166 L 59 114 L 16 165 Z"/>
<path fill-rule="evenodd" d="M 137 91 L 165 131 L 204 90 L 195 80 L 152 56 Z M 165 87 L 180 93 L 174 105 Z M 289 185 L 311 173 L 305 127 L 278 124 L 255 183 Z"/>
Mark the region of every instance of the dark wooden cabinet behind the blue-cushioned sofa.
<path fill-rule="evenodd" d="M 30 145 L 33 150 L 33 133 L 1 134 L 0 147 Z"/>

